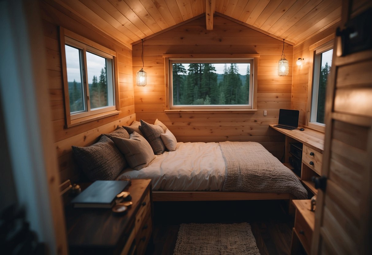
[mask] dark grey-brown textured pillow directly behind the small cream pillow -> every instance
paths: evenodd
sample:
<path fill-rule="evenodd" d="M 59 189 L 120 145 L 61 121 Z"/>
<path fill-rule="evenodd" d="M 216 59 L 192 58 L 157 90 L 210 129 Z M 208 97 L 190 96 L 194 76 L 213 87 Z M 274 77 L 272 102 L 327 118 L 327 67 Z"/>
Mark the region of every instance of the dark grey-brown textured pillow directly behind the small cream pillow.
<path fill-rule="evenodd" d="M 142 131 L 148 143 L 150 143 L 151 148 L 153 148 L 154 154 L 163 154 L 163 152 L 165 151 L 165 146 L 160 138 L 160 134 L 164 133 L 163 129 L 158 125 L 149 124 L 147 122 L 144 122 L 143 120 L 140 121 L 140 130 Z"/>

